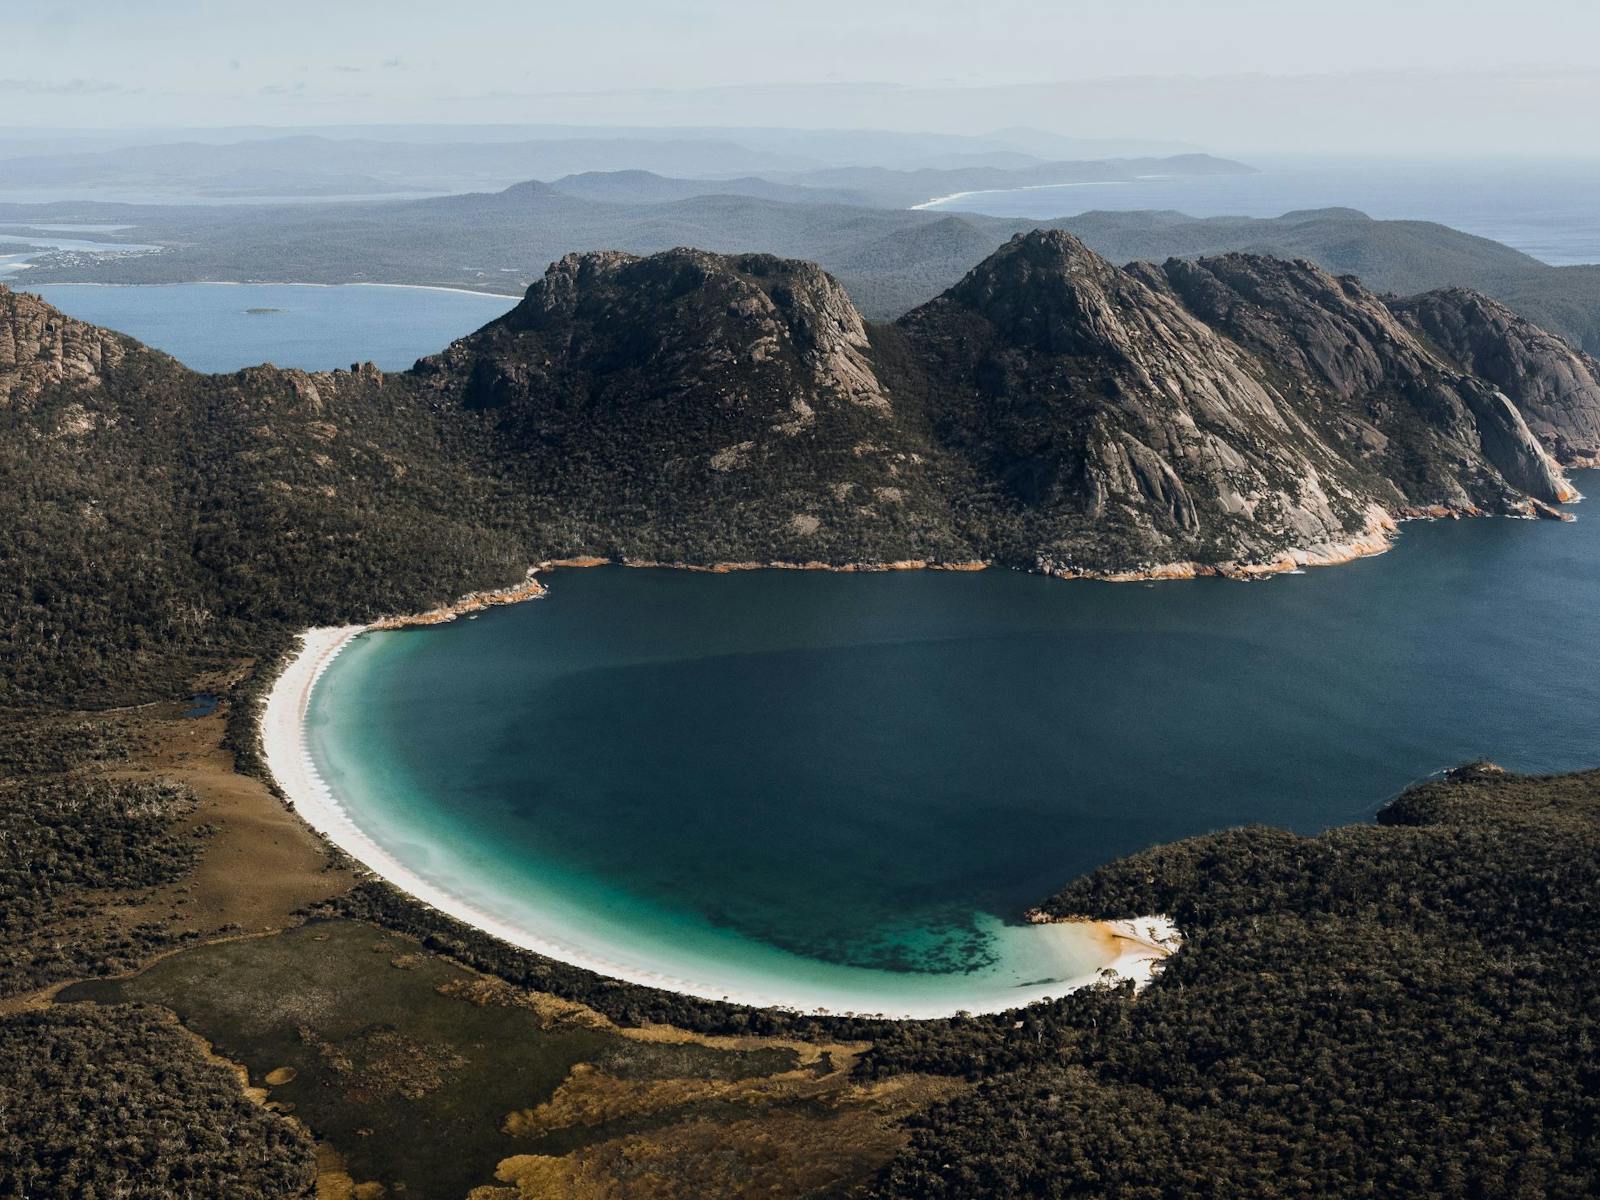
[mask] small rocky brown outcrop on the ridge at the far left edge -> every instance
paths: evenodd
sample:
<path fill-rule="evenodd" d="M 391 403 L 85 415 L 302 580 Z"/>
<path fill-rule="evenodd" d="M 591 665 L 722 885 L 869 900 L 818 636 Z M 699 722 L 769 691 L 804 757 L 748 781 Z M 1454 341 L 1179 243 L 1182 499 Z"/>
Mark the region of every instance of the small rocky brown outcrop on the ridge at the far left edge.
<path fill-rule="evenodd" d="M 130 354 L 155 352 L 0 285 L 0 408 L 27 405 L 54 384 L 98 389 Z"/>

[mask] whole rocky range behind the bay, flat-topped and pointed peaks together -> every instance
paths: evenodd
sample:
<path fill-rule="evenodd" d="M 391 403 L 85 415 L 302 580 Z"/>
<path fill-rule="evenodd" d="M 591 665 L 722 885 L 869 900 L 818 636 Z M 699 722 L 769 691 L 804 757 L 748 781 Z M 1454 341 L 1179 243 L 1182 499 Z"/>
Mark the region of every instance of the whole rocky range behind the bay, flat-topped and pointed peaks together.
<path fill-rule="evenodd" d="M 1122 269 L 1061 230 L 886 326 L 811 264 L 573 254 L 414 378 L 486 418 L 539 512 L 581 520 L 560 554 L 1251 574 L 1371 552 L 1403 517 L 1576 498 L 1518 408 L 1549 400 L 1357 280 L 1250 254 Z M 717 536 L 642 538 L 627 512 L 650 507 Z"/>

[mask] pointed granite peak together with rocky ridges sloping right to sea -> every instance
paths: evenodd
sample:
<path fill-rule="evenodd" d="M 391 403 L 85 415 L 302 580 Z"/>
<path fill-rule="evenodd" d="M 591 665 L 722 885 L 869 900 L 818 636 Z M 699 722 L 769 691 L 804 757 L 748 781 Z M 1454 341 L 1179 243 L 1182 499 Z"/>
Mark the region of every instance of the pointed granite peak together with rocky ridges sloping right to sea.
<path fill-rule="evenodd" d="M 1168 272 L 1035 232 L 899 322 L 934 429 L 1043 570 L 1320 560 L 1418 509 L 1571 498 L 1510 402 L 1354 282 L 1250 256 Z"/>

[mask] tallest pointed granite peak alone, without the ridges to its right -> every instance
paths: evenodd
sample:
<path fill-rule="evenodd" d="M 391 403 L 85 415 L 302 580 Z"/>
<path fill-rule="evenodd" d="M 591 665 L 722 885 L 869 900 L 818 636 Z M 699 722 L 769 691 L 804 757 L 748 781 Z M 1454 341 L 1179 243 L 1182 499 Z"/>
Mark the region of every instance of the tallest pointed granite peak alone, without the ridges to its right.
<path fill-rule="evenodd" d="M 1043 570 L 1323 552 L 1390 499 L 1251 355 L 1069 234 L 1014 238 L 899 326 L 934 435 Z"/>

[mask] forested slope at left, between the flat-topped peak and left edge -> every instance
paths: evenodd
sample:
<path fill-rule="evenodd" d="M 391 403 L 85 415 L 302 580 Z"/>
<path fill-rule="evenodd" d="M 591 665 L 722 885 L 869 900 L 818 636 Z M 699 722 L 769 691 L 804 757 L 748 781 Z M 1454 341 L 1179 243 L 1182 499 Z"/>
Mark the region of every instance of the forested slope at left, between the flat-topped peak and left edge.
<path fill-rule="evenodd" d="M 373 368 L 205 376 L 0 288 L 0 694 L 117 704 L 296 626 L 526 568 L 454 430 Z"/>

